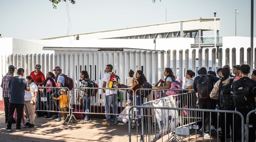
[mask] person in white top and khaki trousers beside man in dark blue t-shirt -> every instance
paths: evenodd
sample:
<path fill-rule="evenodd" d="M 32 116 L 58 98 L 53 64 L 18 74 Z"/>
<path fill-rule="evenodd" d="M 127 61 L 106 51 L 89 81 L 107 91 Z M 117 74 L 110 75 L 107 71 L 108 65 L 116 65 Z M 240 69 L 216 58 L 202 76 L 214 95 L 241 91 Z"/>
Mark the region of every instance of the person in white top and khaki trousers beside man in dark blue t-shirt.
<path fill-rule="evenodd" d="M 36 102 L 36 96 L 38 92 L 37 85 L 35 85 L 34 80 L 31 76 L 27 76 L 26 79 L 29 82 L 30 91 L 26 91 L 24 99 L 24 112 L 27 116 L 27 122 L 25 123 L 28 128 L 34 127 L 34 121 L 35 121 L 35 102 Z"/>

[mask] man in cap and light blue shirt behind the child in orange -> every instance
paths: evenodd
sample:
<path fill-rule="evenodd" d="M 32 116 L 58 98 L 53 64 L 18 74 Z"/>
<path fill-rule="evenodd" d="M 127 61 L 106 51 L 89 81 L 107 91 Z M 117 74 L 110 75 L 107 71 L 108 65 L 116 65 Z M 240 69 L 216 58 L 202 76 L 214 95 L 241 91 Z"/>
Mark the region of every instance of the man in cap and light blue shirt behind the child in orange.
<path fill-rule="evenodd" d="M 54 70 L 52 70 L 55 72 L 55 74 L 57 75 L 57 87 L 64 87 L 64 84 L 65 84 L 65 77 L 63 76 L 62 74 L 62 69 L 60 67 L 55 67 Z M 60 94 L 59 94 L 60 95 Z M 53 100 L 55 101 L 55 100 Z M 58 101 L 55 101 L 55 104 L 57 105 L 57 108 L 60 110 L 60 105 L 58 104 Z M 63 116 L 62 116 L 62 113 L 58 113 L 58 118 L 55 119 L 55 121 L 61 121 L 63 120 Z"/>

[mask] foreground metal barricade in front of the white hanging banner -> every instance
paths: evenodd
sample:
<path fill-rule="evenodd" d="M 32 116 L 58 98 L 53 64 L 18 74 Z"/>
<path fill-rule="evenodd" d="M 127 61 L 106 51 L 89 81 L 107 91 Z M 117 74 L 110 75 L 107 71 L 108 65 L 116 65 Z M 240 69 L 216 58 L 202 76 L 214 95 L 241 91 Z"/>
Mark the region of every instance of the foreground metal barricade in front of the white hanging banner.
<path fill-rule="evenodd" d="M 171 99 L 170 96 L 165 98 L 166 100 Z M 171 99 L 172 100 L 172 99 Z M 160 101 L 160 100 L 159 100 Z M 171 101 L 167 101 L 168 103 Z M 164 103 L 168 106 L 168 103 Z M 175 102 L 172 101 L 172 104 L 174 105 Z M 228 131 L 230 128 L 227 128 L 226 123 L 230 122 L 231 120 L 234 120 L 235 117 L 241 118 L 241 124 L 244 123 L 243 115 L 240 112 L 237 111 L 228 111 L 228 110 L 212 110 L 212 109 L 192 109 L 192 108 L 175 108 L 174 107 L 154 107 L 154 106 L 132 106 L 130 110 L 132 109 L 142 109 L 141 115 L 141 133 L 138 130 L 137 127 L 137 141 L 221 141 L 218 137 L 218 135 L 221 135 L 220 131 L 217 129 L 210 130 L 209 131 L 209 137 L 205 137 L 204 133 L 200 133 L 199 129 L 189 129 L 182 126 L 181 128 L 177 127 L 177 121 L 178 121 L 178 111 L 187 111 L 187 112 L 196 112 L 197 115 L 199 112 L 202 113 L 202 123 L 204 124 L 204 117 L 205 113 L 210 114 L 210 124 L 211 125 L 211 119 L 212 114 L 217 113 L 217 118 L 219 119 L 219 114 L 222 114 L 222 118 L 224 118 L 224 121 L 222 121 L 222 125 L 225 125 L 222 130 L 222 134 L 225 135 L 223 139 L 230 139 L 228 138 Z M 156 112 L 155 115 L 150 114 L 154 110 Z M 146 113 L 144 113 L 146 112 Z M 129 112 L 130 115 L 130 112 Z M 231 120 L 228 119 L 228 115 L 232 116 Z M 153 118 L 155 117 L 155 118 Z M 157 118 L 156 118 L 157 117 Z M 152 122 L 152 120 L 155 119 L 155 123 Z M 219 123 L 221 123 L 219 120 L 217 120 L 218 124 L 217 127 L 219 127 Z M 129 120 L 129 141 L 131 142 L 131 126 L 132 121 Z M 195 123 L 197 125 L 197 122 Z M 234 138 L 234 133 L 237 130 L 234 130 L 234 121 L 230 125 L 232 127 L 232 138 Z M 240 125 L 240 124 L 238 124 Z M 202 127 L 202 131 L 204 132 L 204 127 Z M 225 133 L 224 133 L 225 132 Z M 243 135 L 244 135 L 244 125 L 241 125 L 241 140 L 244 141 Z"/>

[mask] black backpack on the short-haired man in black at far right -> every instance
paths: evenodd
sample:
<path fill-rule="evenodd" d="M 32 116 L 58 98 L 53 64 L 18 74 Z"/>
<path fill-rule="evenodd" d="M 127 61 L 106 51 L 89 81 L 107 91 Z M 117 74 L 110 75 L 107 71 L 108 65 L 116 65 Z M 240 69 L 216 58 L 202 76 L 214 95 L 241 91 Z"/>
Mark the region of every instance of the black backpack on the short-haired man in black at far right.
<path fill-rule="evenodd" d="M 253 109 L 252 98 L 249 97 L 249 83 L 239 80 L 240 84 L 233 88 L 233 100 L 237 109 Z"/>

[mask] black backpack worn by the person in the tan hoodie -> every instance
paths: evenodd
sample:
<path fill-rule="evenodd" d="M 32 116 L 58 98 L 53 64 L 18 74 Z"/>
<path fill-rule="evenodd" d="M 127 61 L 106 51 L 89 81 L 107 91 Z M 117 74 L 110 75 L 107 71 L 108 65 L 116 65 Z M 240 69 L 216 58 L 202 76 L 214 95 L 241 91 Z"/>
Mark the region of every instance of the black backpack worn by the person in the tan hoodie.
<path fill-rule="evenodd" d="M 231 86 L 234 79 L 230 78 L 230 81 L 227 85 L 222 86 L 220 94 L 218 94 L 218 106 L 221 107 L 222 110 L 234 110 L 234 101 L 230 95 Z"/>

